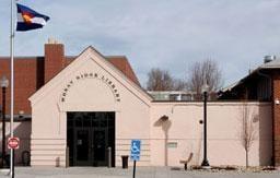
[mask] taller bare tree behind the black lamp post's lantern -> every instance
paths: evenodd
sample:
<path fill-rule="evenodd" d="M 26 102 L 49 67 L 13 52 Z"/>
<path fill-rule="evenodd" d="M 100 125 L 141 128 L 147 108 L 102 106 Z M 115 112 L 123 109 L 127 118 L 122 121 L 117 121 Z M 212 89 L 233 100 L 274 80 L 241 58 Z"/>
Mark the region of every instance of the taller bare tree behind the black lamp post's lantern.
<path fill-rule="evenodd" d="M 222 72 L 214 60 L 197 61 L 188 72 L 188 87 L 201 94 L 202 85 L 207 83 L 210 92 L 217 92 L 222 86 Z"/>

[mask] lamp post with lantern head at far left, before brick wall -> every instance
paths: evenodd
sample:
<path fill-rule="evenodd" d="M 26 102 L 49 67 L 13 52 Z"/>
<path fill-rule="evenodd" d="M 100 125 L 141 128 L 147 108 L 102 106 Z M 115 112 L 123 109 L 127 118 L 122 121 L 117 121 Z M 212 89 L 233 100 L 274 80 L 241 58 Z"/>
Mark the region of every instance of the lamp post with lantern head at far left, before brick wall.
<path fill-rule="evenodd" d="M 5 90 L 9 86 L 9 80 L 2 76 L 0 80 L 0 85 L 2 88 L 2 167 L 4 167 L 5 157 Z"/>

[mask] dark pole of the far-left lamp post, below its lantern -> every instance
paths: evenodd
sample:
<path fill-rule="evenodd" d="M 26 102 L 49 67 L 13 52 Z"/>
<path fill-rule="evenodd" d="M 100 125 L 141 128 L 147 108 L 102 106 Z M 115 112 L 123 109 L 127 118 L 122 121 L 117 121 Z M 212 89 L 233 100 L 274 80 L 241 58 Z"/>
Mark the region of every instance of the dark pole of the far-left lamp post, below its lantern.
<path fill-rule="evenodd" d="M 5 87 L 2 87 L 2 167 L 5 158 Z"/>

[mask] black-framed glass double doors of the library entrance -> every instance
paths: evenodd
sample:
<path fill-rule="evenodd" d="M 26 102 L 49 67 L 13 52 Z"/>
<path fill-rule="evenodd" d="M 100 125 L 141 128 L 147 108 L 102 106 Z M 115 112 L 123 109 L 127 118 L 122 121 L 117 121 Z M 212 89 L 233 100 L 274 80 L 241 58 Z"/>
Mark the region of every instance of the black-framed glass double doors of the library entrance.
<path fill-rule="evenodd" d="M 115 166 L 115 112 L 67 112 L 67 145 L 70 166 Z"/>

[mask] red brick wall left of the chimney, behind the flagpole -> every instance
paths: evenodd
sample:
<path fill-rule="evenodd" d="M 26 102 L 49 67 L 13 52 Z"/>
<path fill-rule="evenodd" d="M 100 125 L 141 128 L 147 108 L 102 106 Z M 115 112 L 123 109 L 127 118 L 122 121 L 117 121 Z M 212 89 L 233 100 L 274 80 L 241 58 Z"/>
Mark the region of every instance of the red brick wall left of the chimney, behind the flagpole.
<path fill-rule="evenodd" d="M 31 105 L 28 97 L 35 93 L 44 84 L 44 59 L 35 58 L 15 58 L 14 60 L 14 114 L 19 115 L 20 110 L 31 115 Z M 11 102 L 11 75 L 10 75 L 10 58 L 0 59 L 0 78 L 5 75 L 9 79 L 9 87 L 7 90 L 5 114 L 10 115 Z M 1 90 L 0 90 L 1 91 Z M 2 92 L 0 92 L 0 100 L 2 102 Z M 2 105 L 2 103 L 0 103 Z"/>

